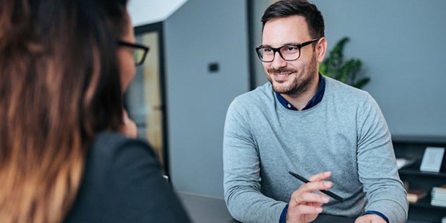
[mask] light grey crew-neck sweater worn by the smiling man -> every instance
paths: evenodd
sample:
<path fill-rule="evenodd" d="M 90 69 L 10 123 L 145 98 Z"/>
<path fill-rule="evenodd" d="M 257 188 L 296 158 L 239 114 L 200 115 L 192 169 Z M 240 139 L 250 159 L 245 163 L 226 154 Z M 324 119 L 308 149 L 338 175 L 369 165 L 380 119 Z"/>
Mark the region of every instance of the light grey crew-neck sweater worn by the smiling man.
<path fill-rule="evenodd" d="M 398 176 L 387 123 L 365 91 L 324 77 L 322 101 L 290 111 L 266 83 L 238 96 L 224 125 L 224 197 L 232 217 L 244 223 L 278 223 L 291 193 L 306 178 L 332 171 L 333 191 L 344 198 L 323 213 L 357 217 L 378 211 L 390 223 L 407 218 L 406 192 Z"/>

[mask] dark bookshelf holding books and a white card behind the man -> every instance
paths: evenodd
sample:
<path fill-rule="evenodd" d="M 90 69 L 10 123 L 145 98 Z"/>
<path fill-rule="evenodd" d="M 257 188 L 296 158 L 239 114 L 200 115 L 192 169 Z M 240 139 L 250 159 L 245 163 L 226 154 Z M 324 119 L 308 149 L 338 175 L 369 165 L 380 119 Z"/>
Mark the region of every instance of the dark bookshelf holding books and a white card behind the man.
<path fill-rule="evenodd" d="M 409 220 L 441 223 L 441 219 L 446 216 L 446 207 L 431 205 L 431 191 L 432 187 L 446 183 L 446 158 L 438 173 L 420 171 L 420 165 L 426 147 L 446 148 L 446 137 L 393 136 L 392 143 L 396 158 L 416 159 L 411 167 L 399 170 L 401 180 L 408 182 L 410 189 L 428 192 L 417 203 L 409 203 Z"/>

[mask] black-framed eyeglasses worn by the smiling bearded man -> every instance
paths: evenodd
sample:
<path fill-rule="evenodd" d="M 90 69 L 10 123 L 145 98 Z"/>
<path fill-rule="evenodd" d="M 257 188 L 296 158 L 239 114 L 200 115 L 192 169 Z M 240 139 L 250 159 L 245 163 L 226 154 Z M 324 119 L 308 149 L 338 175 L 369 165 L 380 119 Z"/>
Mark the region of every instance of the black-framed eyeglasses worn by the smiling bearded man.
<path fill-rule="evenodd" d="M 279 48 L 272 47 L 257 47 L 256 52 L 257 56 L 259 56 L 260 60 L 263 62 L 271 62 L 274 60 L 274 56 L 276 56 L 276 52 L 279 53 L 280 57 L 286 61 L 293 61 L 300 57 L 300 49 L 307 45 L 310 45 L 321 38 L 313 39 L 305 43 L 301 44 L 289 44 L 285 46 L 281 46 Z"/>

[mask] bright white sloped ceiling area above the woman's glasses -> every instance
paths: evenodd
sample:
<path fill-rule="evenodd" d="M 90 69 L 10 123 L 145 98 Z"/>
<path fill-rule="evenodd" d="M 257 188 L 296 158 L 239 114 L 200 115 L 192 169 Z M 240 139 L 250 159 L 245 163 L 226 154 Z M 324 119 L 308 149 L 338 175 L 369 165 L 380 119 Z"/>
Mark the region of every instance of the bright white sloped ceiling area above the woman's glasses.
<path fill-rule="evenodd" d="M 187 0 L 130 0 L 128 12 L 133 26 L 164 21 Z"/>

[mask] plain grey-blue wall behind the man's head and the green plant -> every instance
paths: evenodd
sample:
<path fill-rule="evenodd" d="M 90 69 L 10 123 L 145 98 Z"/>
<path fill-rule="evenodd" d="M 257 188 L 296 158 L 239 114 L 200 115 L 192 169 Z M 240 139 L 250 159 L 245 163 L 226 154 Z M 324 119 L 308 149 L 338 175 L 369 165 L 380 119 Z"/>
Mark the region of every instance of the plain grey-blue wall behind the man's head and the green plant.
<path fill-rule="evenodd" d="M 446 136 L 446 1 L 312 1 L 324 15 L 329 50 L 350 37 L 345 56 L 362 59 L 371 77 L 364 90 L 391 133 Z"/>

